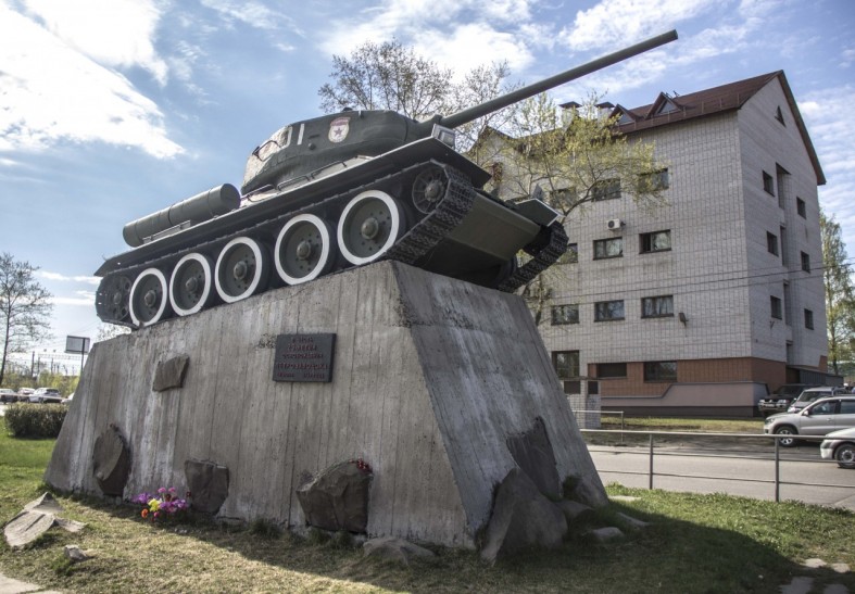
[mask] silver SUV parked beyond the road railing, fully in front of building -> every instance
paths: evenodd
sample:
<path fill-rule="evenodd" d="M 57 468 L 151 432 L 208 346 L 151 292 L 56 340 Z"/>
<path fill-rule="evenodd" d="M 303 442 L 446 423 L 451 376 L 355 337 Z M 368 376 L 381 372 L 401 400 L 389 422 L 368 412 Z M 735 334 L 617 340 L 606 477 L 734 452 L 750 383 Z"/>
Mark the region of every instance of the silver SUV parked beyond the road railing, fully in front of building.
<path fill-rule="evenodd" d="M 819 399 L 797 413 L 780 413 L 763 421 L 763 432 L 776 435 L 826 435 L 850 427 L 855 427 L 855 396 L 852 395 Z M 779 441 L 782 446 L 792 447 L 796 438 Z"/>

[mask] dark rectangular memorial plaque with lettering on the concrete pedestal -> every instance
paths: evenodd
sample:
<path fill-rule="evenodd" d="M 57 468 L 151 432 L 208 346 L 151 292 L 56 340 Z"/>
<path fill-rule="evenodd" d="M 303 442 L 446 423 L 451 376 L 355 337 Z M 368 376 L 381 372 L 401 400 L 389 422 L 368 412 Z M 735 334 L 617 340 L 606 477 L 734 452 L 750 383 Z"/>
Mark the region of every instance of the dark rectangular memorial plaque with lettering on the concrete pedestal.
<path fill-rule="evenodd" d="M 273 381 L 332 381 L 336 334 L 279 334 Z"/>

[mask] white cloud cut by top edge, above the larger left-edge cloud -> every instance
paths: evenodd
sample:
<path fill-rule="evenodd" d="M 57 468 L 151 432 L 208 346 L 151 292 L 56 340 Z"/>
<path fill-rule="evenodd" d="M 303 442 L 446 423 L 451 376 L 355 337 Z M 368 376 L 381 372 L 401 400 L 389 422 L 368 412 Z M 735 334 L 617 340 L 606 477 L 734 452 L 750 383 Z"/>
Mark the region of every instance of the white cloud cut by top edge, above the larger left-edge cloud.
<path fill-rule="evenodd" d="M 152 39 L 160 20 L 149 0 L 25 0 L 27 12 L 45 28 L 95 62 L 111 67 L 139 66 L 161 84 L 167 68 Z"/>

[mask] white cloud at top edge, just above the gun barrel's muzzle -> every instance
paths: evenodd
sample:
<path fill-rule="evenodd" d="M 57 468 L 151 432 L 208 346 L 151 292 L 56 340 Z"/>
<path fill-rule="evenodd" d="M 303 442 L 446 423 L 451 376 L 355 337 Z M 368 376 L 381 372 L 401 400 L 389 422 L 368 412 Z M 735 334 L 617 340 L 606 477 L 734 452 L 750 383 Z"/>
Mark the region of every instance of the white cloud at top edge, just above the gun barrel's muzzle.
<path fill-rule="evenodd" d="M 573 50 L 624 47 L 720 8 L 715 0 L 603 0 L 579 11 L 561 37 Z"/>

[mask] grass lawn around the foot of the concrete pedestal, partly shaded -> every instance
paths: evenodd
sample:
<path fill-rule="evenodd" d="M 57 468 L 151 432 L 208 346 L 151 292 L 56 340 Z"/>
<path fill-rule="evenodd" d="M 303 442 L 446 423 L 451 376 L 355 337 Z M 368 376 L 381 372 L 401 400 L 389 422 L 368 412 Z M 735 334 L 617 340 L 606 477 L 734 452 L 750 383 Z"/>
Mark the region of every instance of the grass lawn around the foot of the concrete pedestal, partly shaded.
<path fill-rule="evenodd" d="M 0 435 L 0 522 L 43 489 L 52 441 Z M 795 576 L 855 589 L 852 574 L 808 570 L 820 557 L 855 567 L 855 514 L 781 503 L 609 485 L 634 495 L 598 514 L 624 511 L 652 526 L 609 545 L 575 535 L 557 551 L 536 552 L 494 567 L 477 554 L 437 548 L 412 567 L 365 559 L 347 539 L 303 540 L 262 522 L 229 528 L 204 520 L 152 525 L 138 509 L 59 495 L 65 517 L 86 522 L 53 529 L 24 551 L 0 545 L 0 571 L 66 592 L 779 592 Z M 619 522 L 618 522 L 619 523 Z M 264 530 L 262 530 L 264 528 Z M 65 544 L 92 552 L 62 560 Z"/>

